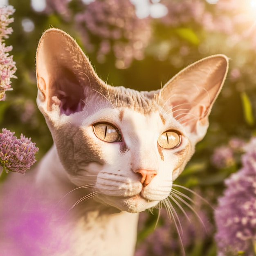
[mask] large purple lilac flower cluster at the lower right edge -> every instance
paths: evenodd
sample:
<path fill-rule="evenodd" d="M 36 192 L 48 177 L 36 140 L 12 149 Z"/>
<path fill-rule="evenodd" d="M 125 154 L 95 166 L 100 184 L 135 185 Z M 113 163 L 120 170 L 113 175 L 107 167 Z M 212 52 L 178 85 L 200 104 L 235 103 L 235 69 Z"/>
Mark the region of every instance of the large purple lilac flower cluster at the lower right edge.
<path fill-rule="evenodd" d="M 256 253 L 256 137 L 245 149 L 243 168 L 225 180 L 227 189 L 215 211 L 220 256 Z"/>

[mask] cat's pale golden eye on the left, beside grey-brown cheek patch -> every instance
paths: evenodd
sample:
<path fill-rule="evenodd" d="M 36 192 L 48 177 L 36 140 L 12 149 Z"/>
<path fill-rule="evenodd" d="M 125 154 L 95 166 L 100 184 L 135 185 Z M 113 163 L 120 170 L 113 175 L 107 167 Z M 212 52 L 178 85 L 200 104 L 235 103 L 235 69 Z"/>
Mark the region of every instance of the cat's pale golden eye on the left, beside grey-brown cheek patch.
<path fill-rule="evenodd" d="M 111 124 L 95 124 L 92 129 L 94 134 L 103 141 L 116 142 L 122 139 L 119 129 Z"/>

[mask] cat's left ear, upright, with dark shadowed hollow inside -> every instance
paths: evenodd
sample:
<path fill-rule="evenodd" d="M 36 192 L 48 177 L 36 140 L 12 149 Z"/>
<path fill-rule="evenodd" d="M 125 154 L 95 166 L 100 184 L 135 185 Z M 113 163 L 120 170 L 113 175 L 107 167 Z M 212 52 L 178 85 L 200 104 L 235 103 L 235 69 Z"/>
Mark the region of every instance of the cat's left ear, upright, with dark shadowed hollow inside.
<path fill-rule="evenodd" d="M 37 103 L 44 115 L 57 106 L 60 113 L 80 112 L 94 90 L 106 90 L 75 40 L 59 29 L 48 29 L 36 53 Z M 94 89 L 94 90 L 92 90 Z"/>

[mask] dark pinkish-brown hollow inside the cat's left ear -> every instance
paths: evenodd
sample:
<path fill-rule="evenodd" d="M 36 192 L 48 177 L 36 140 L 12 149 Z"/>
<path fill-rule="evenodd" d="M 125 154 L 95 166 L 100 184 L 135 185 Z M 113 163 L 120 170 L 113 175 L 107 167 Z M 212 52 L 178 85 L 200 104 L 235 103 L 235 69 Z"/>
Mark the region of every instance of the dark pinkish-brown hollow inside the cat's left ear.
<path fill-rule="evenodd" d="M 65 67 L 59 67 L 58 71 L 50 79 L 47 88 L 48 110 L 51 110 L 52 104 L 55 103 L 65 115 L 82 111 L 85 105 L 85 90 L 72 71 Z"/>

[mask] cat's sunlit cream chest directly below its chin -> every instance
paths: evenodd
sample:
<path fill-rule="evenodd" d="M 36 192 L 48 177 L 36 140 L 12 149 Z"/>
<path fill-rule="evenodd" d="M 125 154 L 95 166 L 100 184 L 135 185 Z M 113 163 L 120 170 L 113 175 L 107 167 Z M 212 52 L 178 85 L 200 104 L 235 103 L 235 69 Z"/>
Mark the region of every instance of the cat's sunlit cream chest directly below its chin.
<path fill-rule="evenodd" d="M 138 214 L 97 214 L 91 213 L 76 222 L 71 241 L 73 255 L 132 256 L 137 238 Z"/>

